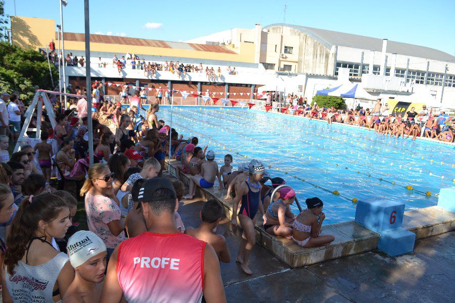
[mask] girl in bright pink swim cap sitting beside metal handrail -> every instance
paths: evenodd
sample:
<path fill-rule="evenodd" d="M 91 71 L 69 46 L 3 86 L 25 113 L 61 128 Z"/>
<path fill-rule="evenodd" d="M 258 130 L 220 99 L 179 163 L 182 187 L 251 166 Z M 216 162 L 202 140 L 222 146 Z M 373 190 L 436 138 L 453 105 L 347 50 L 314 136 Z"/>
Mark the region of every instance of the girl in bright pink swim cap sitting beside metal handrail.
<path fill-rule="evenodd" d="M 292 223 L 295 219 L 295 215 L 291 212 L 291 205 L 294 200 L 295 191 L 291 187 L 280 189 L 280 198 L 274 203 L 270 203 L 265 211 L 264 230 L 267 233 L 291 238 Z"/>

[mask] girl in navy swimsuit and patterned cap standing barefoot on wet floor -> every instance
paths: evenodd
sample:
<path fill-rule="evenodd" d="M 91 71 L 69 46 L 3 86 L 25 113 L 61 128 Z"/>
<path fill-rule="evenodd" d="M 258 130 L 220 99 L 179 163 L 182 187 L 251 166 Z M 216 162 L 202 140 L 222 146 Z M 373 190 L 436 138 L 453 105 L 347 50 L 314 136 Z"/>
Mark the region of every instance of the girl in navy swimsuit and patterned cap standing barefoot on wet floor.
<path fill-rule="evenodd" d="M 242 241 L 240 242 L 236 261 L 241 264 L 243 271 L 248 275 L 253 274 L 249 268 L 248 260 L 251 249 L 256 243 L 254 226 L 256 225 L 256 213 L 258 210 L 261 212 L 264 221 L 266 221 L 260 199 L 261 185 L 259 184 L 264 172 L 265 167 L 261 162 L 254 159 L 251 160 L 247 180 L 237 187 L 236 199 L 232 208 L 231 224 L 237 226 L 237 216 L 239 216 L 240 225 L 243 229 Z M 242 206 L 237 214 L 240 201 L 242 201 Z"/>

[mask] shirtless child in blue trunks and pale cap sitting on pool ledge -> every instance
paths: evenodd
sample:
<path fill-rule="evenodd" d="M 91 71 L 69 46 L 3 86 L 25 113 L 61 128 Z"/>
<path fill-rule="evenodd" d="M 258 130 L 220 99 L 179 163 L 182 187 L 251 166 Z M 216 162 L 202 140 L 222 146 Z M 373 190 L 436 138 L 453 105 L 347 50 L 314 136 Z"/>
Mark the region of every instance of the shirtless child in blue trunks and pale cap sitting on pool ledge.
<path fill-rule="evenodd" d="M 190 189 L 188 195 L 184 196 L 184 199 L 192 199 L 196 190 L 196 185 L 202 188 L 213 187 L 215 178 L 218 177 L 218 182 L 221 184 L 221 177 L 218 173 L 218 164 L 214 162 L 215 152 L 213 150 L 207 151 L 207 162 L 201 164 L 201 174 L 191 176 Z"/>

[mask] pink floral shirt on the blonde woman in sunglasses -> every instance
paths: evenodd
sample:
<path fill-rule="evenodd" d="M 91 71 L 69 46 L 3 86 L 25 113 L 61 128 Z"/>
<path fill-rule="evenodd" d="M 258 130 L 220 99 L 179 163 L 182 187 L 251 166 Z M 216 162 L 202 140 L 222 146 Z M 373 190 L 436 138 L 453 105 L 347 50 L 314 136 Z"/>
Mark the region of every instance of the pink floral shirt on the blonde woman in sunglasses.
<path fill-rule="evenodd" d="M 103 195 L 85 194 L 85 213 L 87 214 L 88 230 L 96 233 L 107 248 L 115 248 L 125 240 L 125 232 L 114 236 L 109 230 L 108 223 L 120 220 L 120 208 L 115 201 Z"/>

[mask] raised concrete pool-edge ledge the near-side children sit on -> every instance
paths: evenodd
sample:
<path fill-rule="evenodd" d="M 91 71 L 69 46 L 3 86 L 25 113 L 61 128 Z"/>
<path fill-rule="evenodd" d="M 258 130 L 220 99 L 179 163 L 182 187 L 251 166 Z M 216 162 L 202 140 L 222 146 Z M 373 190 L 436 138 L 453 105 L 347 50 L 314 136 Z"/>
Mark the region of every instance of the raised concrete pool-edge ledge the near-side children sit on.
<path fill-rule="evenodd" d="M 168 159 L 166 159 L 166 163 Z M 174 164 L 170 161 L 170 174 L 176 176 Z M 180 172 L 178 176 L 188 186 L 189 175 Z M 232 215 L 234 200 L 226 200 L 225 190 L 220 191 L 218 185 L 209 189 L 198 187 L 196 196 L 200 200 L 215 199 L 224 207 L 228 219 Z M 335 241 L 328 247 L 304 248 L 292 240 L 271 236 L 262 228 L 262 218 L 257 215 L 255 226 L 256 241 L 270 250 L 281 261 L 291 268 L 298 268 L 323 261 L 359 254 L 377 247 L 380 234 L 361 226 L 354 221 L 324 225 L 322 234 L 332 234 Z M 416 234 L 416 239 L 429 237 L 455 229 L 455 214 L 438 206 L 404 212 L 403 227 Z"/>

